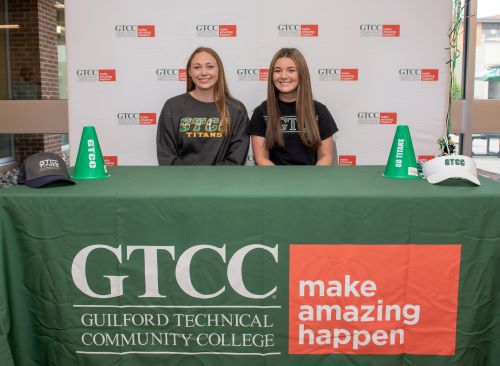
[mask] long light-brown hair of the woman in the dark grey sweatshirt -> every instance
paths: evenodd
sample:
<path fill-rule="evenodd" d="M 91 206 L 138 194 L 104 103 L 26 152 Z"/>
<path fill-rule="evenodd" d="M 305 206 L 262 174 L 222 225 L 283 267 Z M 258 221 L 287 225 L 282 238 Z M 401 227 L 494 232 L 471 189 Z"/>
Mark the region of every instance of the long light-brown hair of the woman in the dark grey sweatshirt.
<path fill-rule="evenodd" d="M 217 82 L 215 83 L 214 86 L 214 100 L 215 104 L 217 106 L 217 110 L 219 111 L 220 114 L 220 123 L 224 126 L 224 134 L 228 134 L 230 130 L 230 124 L 231 124 L 231 119 L 229 117 L 229 110 L 226 105 L 226 98 L 231 98 L 231 93 L 229 93 L 229 88 L 227 87 L 226 83 L 226 76 L 224 74 L 224 66 L 222 65 L 222 60 L 212 48 L 210 47 L 198 47 L 193 51 L 191 56 L 189 57 L 187 66 L 186 66 L 186 71 L 187 71 L 187 83 L 186 83 L 186 92 L 190 92 L 196 88 L 195 83 L 193 82 L 193 78 L 189 74 L 189 70 L 191 68 L 191 63 L 193 61 L 194 56 L 196 56 L 200 52 L 206 52 L 209 53 L 210 55 L 215 58 L 215 61 L 217 62 L 217 67 L 219 68 L 219 72 L 217 75 Z"/>

